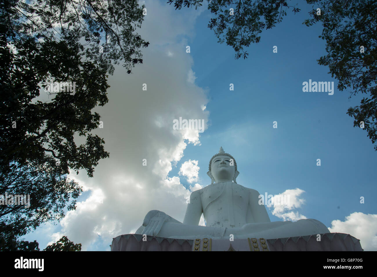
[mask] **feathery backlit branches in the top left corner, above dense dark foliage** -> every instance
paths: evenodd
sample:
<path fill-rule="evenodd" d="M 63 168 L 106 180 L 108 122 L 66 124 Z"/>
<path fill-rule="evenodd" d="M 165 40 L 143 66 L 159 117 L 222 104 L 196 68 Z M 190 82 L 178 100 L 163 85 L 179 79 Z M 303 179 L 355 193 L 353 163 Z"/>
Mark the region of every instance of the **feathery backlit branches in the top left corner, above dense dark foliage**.
<path fill-rule="evenodd" d="M 130 73 L 143 63 L 147 47 L 136 28 L 146 13 L 138 0 L 0 0 L 0 21 L 10 30 L 9 40 L 85 41 L 81 54 L 97 61 L 110 74 L 123 61 Z"/>

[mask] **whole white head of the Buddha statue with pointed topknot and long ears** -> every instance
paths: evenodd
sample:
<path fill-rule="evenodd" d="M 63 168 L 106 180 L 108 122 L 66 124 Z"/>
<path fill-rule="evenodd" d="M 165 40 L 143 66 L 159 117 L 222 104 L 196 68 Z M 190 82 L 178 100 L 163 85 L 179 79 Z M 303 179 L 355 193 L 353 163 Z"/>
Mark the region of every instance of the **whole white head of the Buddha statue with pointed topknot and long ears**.
<path fill-rule="evenodd" d="M 230 159 L 233 159 L 234 165 L 230 165 Z M 222 147 L 220 147 L 219 153 L 211 158 L 208 169 L 207 175 L 212 180 L 211 184 L 213 184 L 213 182 L 228 181 L 234 181 L 234 183 L 236 183 L 236 178 L 239 174 L 236 160 L 230 154 L 225 153 Z"/>

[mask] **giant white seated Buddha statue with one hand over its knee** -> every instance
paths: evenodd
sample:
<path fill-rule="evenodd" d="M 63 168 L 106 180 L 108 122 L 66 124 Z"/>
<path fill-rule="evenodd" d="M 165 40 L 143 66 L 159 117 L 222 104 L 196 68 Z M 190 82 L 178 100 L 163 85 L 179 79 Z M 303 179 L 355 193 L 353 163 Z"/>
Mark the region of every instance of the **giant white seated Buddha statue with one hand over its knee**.
<path fill-rule="evenodd" d="M 315 219 L 271 222 L 265 206 L 259 205 L 259 192 L 236 183 L 239 174 L 236 161 L 222 147 L 211 158 L 207 174 L 212 183 L 191 194 L 183 223 L 162 211 L 152 210 L 136 234 L 174 239 L 229 239 L 231 234 L 234 239 L 277 239 L 329 233 Z M 207 226 L 198 226 L 202 214 Z"/>

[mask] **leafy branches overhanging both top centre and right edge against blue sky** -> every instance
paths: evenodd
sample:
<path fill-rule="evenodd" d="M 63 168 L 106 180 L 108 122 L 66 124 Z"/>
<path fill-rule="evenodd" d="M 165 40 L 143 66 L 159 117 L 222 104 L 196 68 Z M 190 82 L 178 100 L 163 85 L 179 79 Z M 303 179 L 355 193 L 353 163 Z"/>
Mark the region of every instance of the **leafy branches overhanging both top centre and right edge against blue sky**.
<path fill-rule="evenodd" d="M 203 0 L 168 0 L 175 9 L 202 6 Z M 312 4 L 310 19 L 303 22 L 323 26 L 319 38 L 326 40 L 328 55 L 320 57 L 319 64 L 328 66 L 329 73 L 339 80 L 340 91 L 351 88 L 349 98 L 356 93 L 369 94 L 360 106 L 350 107 L 347 114 L 354 117 L 354 127 L 362 126 L 374 144 L 377 141 L 377 2 L 374 0 L 306 0 Z M 219 43 L 226 40 L 233 47 L 235 58 L 247 58 L 244 47 L 261 40 L 263 29 L 281 22 L 291 9 L 286 0 L 208 0 L 211 18 L 208 28 L 213 29 Z M 320 9 L 320 10 L 318 10 Z M 242 52 L 242 53 L 241 53 Z M 377 145 L 374 146 L 377 151 Z"/>

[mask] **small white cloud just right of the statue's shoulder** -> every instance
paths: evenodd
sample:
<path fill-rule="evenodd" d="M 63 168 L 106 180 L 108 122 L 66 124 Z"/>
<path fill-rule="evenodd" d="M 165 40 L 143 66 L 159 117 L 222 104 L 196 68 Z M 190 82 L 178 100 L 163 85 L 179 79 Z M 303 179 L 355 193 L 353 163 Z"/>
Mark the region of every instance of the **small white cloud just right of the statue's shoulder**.
<path fill-rule="evenodd" d="M 299 198 L 299 196 L 305 191 L 295 188 L 293 190 L 286 190 L 283 193 L 276 194 L 271 197 L 271 205 L 267 205 L 268 208 L 273 207 L 272 214 L 276 217 L 283 219 L 284 221 L 297 221 L 299 219 L 306 219 L 304 215 L 298 211 L 294 211 L 296 208 L 300 208 L 305 199 Z M 267 200 L 265 199 L 267 202 Z M 267 204 L 270 204 L 269 202 Z"/>

